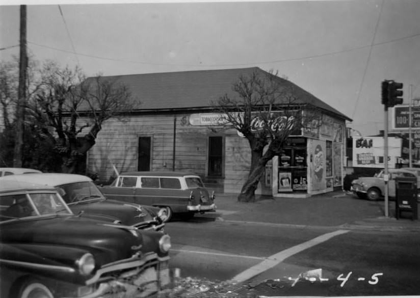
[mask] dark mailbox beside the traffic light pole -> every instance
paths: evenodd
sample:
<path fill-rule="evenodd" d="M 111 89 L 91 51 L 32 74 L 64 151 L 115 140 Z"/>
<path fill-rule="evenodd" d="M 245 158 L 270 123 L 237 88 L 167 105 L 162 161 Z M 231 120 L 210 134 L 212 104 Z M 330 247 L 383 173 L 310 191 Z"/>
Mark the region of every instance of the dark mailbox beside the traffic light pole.
<path fill-rule="evenodd" d="M 411 219 L 418 219 L 417 215 L 417 178 L 396 177 L 395 211 L 397 219 L 402 213 L 411 215 Z"/>

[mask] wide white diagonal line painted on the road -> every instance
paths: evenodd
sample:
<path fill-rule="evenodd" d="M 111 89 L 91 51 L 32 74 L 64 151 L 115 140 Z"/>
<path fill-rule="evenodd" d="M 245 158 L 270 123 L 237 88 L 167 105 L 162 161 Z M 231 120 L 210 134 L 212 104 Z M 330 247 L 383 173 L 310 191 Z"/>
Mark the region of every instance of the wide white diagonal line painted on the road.
<path fill-rule="evenodd" d="M 321 236 L 318 236 L 316 238 L 313 238 L 309 241 L 303 242 L 301 244 L 295 245 L 293 247 L 290 247 L 289 249 L 286 249 L 284 251 L 281 251 L 275 255 L 272 255 L 270 257 L 268 257 L 266 260 L 262 261 L 259 264 L 256 264 L 255 266 L 252 266 L 248 269 L 246 269 L 245 271 L 241 272 L 240 274 L 238 274 L 237 276 L 233 277 L 231 279 L 232 282 L 244 282 L 258 274 L 260 274 L 261 272 L 264 272 L 276 265 L 278 265 L 279 263 L 281 263 L 282 261 L 284 261 L 284 259 L 291 257 L 297 253 L 300 253 L 306 249 L 309 249 L 309 247 L 312 247 L 314 245 L 317 245 L 319 243 L 325 242 L 329 239 L 331 239 L 332 237 L 338 236 L 338 235 L 342 235 L 345 233 L 350 232 L 350 230 L 337 230 L 331 233 L 327 233 L 327 234 L 323 234 Z"/>

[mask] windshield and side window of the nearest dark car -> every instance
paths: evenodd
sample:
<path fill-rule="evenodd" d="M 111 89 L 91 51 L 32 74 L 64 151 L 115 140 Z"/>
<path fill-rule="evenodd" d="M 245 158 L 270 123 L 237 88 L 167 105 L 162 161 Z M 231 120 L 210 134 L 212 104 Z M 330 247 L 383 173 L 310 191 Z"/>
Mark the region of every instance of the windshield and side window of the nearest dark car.
<path fill-rule="evenodd" d="M 20 193 L 0 197 L 0 220 L 48 214 L 72 214 L 57 193 Z"/>

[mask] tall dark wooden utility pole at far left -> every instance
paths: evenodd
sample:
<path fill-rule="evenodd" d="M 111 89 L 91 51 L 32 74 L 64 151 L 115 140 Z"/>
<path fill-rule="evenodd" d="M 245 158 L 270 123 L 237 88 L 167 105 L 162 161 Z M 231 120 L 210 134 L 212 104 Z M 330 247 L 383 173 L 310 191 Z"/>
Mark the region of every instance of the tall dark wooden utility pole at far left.
<path fill-rule="evenodd" d="M 19 55 L 19 89 L 16 110 L 16 139 L 13 166 L 22 167 L 23 131 L 26 106 L 27 79 L 27 6 L 20 6 L 20 55 Z"/>

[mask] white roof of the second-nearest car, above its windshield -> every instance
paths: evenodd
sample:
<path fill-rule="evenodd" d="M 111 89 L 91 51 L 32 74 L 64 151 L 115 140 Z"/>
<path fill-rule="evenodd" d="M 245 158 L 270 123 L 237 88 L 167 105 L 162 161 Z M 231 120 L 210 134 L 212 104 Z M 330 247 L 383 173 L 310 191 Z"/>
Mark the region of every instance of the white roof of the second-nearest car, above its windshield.
<path fill-rule="evenodd" d="M 34 173 L 31 175 L 22 174 L 0 177 L 0 184 L 11 183 L 11 181 L 29 182 L 47 186 L 58 186 L 68 183 L 92 181 L 92 179 L 83 175 L 64 173 Z"/>

